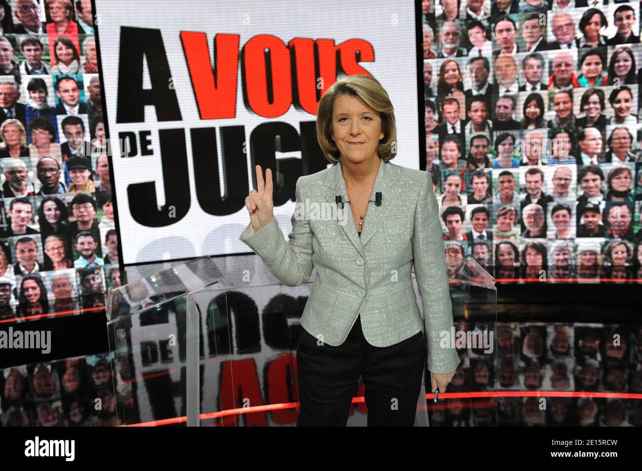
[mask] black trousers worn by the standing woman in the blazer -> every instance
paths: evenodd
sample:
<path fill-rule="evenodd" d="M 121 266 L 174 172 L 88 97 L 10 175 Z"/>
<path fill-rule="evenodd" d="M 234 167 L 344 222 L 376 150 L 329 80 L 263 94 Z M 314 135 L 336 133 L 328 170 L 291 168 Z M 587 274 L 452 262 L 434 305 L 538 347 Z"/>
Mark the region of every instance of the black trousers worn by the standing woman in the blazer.
<path fill-rule="evenodd" d="M 301 327 L 297 427 L 345 427 L 359 376 L 365 384 L 369 427 L 414 425 L 426 359 L 421 331 L 395 345 L 374 347 L 363 336 L 359 316 L 342 345 L 318 343 Z"/>

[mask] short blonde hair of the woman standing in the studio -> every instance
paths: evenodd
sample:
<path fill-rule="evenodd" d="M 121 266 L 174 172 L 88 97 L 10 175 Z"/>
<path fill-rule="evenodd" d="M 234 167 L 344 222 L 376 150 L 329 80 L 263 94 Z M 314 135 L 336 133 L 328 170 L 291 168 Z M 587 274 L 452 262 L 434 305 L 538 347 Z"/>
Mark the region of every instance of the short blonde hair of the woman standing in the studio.
<path fill-rule="evenodd" d="M 377 154 L 383 161 L 394 158 L 397 154 L 394 108 L 381 83 L 369 75 L 351 75 L 337 80 L 321 97 L 317 110 L 317 140 L 325 158 L 330 163 L 336 163 L 340 158 L 339 149 L 331 137 L 334 99 L 338 95 L 360 97 L 370 108 L 379 112 L 383 139 L 379 141 Z"/>

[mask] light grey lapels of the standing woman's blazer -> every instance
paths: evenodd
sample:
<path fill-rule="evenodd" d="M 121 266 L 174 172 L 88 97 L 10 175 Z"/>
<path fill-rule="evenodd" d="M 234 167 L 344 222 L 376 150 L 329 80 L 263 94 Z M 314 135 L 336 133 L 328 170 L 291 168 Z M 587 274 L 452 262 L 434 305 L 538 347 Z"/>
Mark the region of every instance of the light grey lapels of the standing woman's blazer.
<path fill-rule="evenodd" d="M 341 195 L 341 200 L 344 202 L 344 208 L 347 211 L 348 222 L 342 226 L 345 235 L 348 236 L 352 245 L 360 252 L 361 256 L 364 256 L 363 245 L 367 244 L 372 236 L 377 232 L 379 226 L 392 210 L 395 197 L 392 194 L 392 186 L 397 180 L 394 178 L 392 169 L 390 168 L 389 162 L 381 161 L 379 165 L 379 171 L 374 180 L 374 186 L 372 188 L 372 195 L 370 195 L 370 201 L 373 201 L 368 204 L 368 210 L 366 211 L 365 218 L 363 219 L 363 229 L 361 229 L 361 236 L 357 233 L 356 226 L 354 225 L 354 220 L 352 219 L 352 211 L 350 205 L 346 202 L 349 201 L 348 193 L 345 188 L 345 179 L 343 178 L 341 163 L 338 162 L 330 168 L 330 172 L 327 175 L 327 178 L 324 181 L 324 185 L 327 186 L 328 190 L 325 193 L 325 200 L 327 202 L 335 202 L 336 196 Z M 381 192 L 381 206 L 377 207 L 374 201 L 376 201 L 377 192 Z M 337 221 L 337 224 L 339 222 Z"/>

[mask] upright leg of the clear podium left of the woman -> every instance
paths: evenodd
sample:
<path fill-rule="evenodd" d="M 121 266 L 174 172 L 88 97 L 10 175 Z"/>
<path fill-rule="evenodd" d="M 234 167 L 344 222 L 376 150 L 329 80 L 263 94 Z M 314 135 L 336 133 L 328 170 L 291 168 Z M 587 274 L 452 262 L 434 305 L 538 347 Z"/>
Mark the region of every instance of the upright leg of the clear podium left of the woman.
<path fill-rule="evenodd" d="M 199 370 L 199 349 L 198 332 L 200 330 L 200 318 L 198 308 L 193 295 L 187 297 L 187 427 L 200 426 L 200 375 Z"/>

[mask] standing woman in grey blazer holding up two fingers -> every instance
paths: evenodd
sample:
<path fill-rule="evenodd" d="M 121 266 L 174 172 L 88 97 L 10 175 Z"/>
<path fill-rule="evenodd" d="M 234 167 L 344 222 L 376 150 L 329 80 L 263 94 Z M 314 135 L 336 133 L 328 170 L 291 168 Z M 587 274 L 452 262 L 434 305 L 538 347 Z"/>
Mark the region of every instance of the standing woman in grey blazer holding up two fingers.
<path fill-rule="evenodd" d="M 324 93 L 318 104 L 317 138 L 325 158 L 334 165 L 299 178 L 297 201 L 334 202 L 340 196 L 353 222 L 293 217 L 290 243 L 286 242 L 272 211 L 272 170 L 266 170 L 264 181 L 257 165 L 258 191 L 250 190 L 245 199 L 250 223 L 239 237 L 286 285 L 304 283 L 317 269 L 297 347 L 297 425 L 345 426 L 354 388 L 340 388 L 336 377 L 356 384 L 361 375 L 366 395 L 372 397 L 369 423 L 412 426 L 426 347 L 406 254 L 413 254 L 420 294 L 430 299 L 424 302 L 426 335 L 435 338 L 453 325 L 442 227 L 430 174 L 389 162 L 396 154 L 394 110 L 386 91 L 371 76 L 347 76 Z M 394 213 L 381 210 L 385 202 L 381 207 L 370 206 L 373 192 L 385 194 L 395 187 L 399 191 Z M 359 237 L 369 241 L 372 251 L 361 249 Z M 343 254 L 341 261 L 336 258 L 338 251 Z M 381 281 L 365 283 L 364 265 L 369 267 L 369 279 Z M 401 281 L 391 285 L 390 270 L 398 270 Z M 337 277 L 346 283 L 335 283 Z M 385 313 L 383 304 L 388 306 Z M 324 336 L 322 348 L 317 335 Z M 372 347 L 365 336 L 378 346 Z M 377 356 L 362 368 L 361 358 L 372 356 L 375 348 Z M 459 363 L 454 348 L 429 351 L 433 392 L 437 387 L 445 390 Z M 380 368 L 386 369 L 384 376 Z M 372 375 L 377 375 L 377 381 L 371 381 Z M 385 388 L 385 393 L 379 388 Z M 398 410 L 391 412 L 388 397 L 399 400 Z"/>

